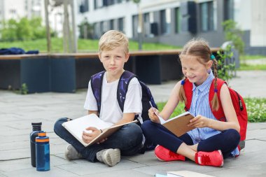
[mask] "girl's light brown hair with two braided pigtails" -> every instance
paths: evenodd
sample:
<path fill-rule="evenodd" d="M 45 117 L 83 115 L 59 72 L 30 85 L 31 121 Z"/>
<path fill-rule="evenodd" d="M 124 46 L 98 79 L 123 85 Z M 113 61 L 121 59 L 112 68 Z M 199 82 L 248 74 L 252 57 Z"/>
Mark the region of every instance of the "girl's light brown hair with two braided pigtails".
<path fill-rule="evenodd" d="M 179 58 L 182 59 L 185 55 L 195 56 L 194 58 L 197 59 L 197 61 L 201 64 L 207 64 L 207 62 L 213 60 L 215 77 L 214 89 L 216 90 L 216 92 L 214 92 L 214 98 L 211 100 L 211 108 L 217 111 L 219 108 L 219 102 L 217 97 L 217 60 L 215 57 L 212 57 L 211 49 L 209 48 L 207 41 L 202 38 L 193 38 L 192 40 L 188 41 L 188 43 L 186 43 L 186 45 L 183 47 Z M 183 78 L 183 80 L 186 80 L 186 78 Z M 182 84 L 179 90 L 179 100 L 185 101 L 186 103 L 186 94 Z"/>

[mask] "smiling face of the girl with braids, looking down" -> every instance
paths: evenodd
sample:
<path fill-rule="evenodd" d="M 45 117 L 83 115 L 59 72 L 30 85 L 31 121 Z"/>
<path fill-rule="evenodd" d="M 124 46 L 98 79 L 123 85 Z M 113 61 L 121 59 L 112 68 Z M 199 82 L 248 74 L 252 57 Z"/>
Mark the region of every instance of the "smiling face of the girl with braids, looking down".
<path fill-rule="evenodd" d="M 203 59 L 202 59 L 203 61 Z M 182 72 L 190 83 L 195 83 L 196 86 L 202 85 L 209 76 L 207 72 L 211 68 L 212 61 L 210 60 L 206 64 L 198 61 L 196 56 L 184 55 L 181 59 Z"/>

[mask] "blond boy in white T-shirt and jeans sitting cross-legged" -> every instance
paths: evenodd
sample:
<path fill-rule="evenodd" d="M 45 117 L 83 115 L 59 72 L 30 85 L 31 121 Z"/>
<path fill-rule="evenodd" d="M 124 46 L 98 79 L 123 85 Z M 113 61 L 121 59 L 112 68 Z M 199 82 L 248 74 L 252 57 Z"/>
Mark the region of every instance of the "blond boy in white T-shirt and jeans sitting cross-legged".
<path fill-rule="evenodd" d="M 102 62 L 106 72 L 102 83 L 102 104 L 100 113 L 97 108 L 97 101 L 92 93 L 91 80 L 88 85 L 87 97 L 84 108 L 88 114 L 99 114 L 99 118 L 111 125 L 120 125 L 134 120 L 135 115 L 141 114 L 141 85 L 137 78 L 132 78 L 127 90 L 124 111 L 120 110 L 117 101 L 118 81 L 125 71 L 124 64 L 129 59 L 128 39 L 125 34 L 111 30 L 107 31 L 99 40 L 99 59 Z M 139 117 L 141 119 L 141 117 Z M 102 139 L 98 143 L 84 147 L 76 140 L 64 127 L 62 123 L 66 122 L 62 118 L 55 122 L 55 133 L 70 143 L 66 148 L 65 156 L 68 160 L 85 158 L 90 162 L 103 162 L 113 167 L 120 162 L 120 155 L 134 155 L 139 153 L 143 146 L 143 134 L 141 128 L 131 123 L 124 125 L 116 133 L 109 136 L 108 139 Z M 83 141 L 89 143 L 96 136 L 102 133 L 101 129 L 87 127 L 91 133 L 83 132 Z"/>

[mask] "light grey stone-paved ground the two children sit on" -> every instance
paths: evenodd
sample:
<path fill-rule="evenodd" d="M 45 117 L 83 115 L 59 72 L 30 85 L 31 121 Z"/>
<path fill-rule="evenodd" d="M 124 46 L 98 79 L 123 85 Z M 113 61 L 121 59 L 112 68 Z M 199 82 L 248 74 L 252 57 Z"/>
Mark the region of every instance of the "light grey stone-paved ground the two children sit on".
<path fill-rule="evenodd" d="M 265 97 L 265 71 L 239 71 L 231 85 L 244 97 Z M 155 101 L 166 101 L 176 81 L 151 85 Z M 246 148 L 237 158 L 225 160 L 219 167 L 203 167 L 191 161 L 160 162 L 153 151 L 134 157 L 123 157 L 115 167 L 85 160 L 64 158 L 66 143 L 53 132 L 57 118 L 78 118 L 83 110 L 86 90 L 76 94 L 41 93 L 20 95 L 0 90 L 0 177 L 3 176 L 154 176 L 166 171 L 190 170 L 212 176 L 266 176 L 266 123 L 249 123 Z M 29 133 L 31 122 L 43 122 L 42 129 L 50 136 L 51 170 L 36 171 L 31 167 Z"/>

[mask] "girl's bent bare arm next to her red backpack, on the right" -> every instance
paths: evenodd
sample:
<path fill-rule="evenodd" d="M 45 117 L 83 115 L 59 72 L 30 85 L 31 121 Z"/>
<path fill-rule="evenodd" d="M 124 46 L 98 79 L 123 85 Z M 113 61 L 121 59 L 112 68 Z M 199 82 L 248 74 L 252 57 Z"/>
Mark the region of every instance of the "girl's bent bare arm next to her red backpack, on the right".
<path fill-rule="evenodd" d="M 230 97 L 228 86 L 225 84 L 221 87 L 220 98 L 222 103 L 221 106 L 223 106 L 223 112 L 225 113 L 225 118 L 227 122 L 209 119 L 207 127 L 220 131 L 223 131 L 225 129 L 236 129 L 239 132 L 240 126 L 237 120 L 237 114 L 235 113 L 235 109 L 232 104 L 232 99 Z"/>

